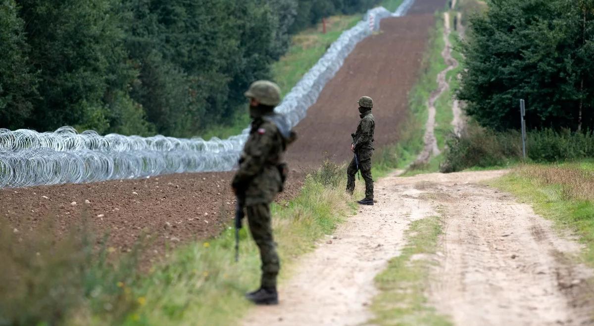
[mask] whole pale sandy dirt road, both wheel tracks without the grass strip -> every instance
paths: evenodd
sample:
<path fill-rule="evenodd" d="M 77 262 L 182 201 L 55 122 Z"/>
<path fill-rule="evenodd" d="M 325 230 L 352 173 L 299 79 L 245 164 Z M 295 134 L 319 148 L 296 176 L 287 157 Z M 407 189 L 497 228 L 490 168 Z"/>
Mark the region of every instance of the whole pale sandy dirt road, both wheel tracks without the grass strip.
<path fill-rule="evenodd" d="M 481 186 L 506 171 L 391 175 L 378 203 L 361 207 L 280 286 L 280 305 L 256 307 L 244 325 L 358 325 L 371 314 L 373 278 L 402 250 L 412 220 L 442 216 L 430 304 L 456 325 L 594 322 L 594 275 L 567 257 L 578 246 L 505 193 Z M 440 212 L 440 213 L 437 213 Z M 331 241 L 331 243 L 330 243 Z M 441 257 L 441 258 L 440 258 Z"/>

